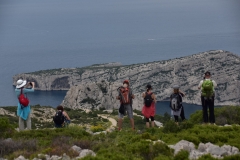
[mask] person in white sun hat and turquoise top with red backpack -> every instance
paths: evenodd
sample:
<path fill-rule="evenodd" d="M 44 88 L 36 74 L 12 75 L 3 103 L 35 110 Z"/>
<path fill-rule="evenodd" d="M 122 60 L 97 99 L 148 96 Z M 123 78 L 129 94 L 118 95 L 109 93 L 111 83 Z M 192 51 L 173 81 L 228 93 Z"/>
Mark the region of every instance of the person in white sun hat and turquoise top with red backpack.
<path fill-rule="evenodd" d="M 27 129 L 32 129 L 31 124 L 31 108 L 27 93 L 34 92 L 34 82 L 19 79 L 17 81 L 15 93 L 18 97 L 17 116 L 19 116 L 19 131 L 24 130 L 24 121 L 27 123 Z"/>

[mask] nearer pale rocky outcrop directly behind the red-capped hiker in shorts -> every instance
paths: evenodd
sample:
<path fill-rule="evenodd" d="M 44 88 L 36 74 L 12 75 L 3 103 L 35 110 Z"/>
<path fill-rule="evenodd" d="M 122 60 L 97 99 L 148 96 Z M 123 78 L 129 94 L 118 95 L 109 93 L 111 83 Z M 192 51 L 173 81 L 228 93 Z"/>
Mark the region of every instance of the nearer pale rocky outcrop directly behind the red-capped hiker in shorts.
<path fill-rule="evenodd" d="M 73 109 L 119 108 L 120 102 L 116 99 L 116 96 L 118 95 L 117 89 L 121 85 L 121 83 L 111 83 L 104 80 L 96 83 L 79 84 L 69 89 L 61 105 Z M 135 96 L 133 106 L 140 110 L 143 100 L 139 93 L 136 93 Z"/>

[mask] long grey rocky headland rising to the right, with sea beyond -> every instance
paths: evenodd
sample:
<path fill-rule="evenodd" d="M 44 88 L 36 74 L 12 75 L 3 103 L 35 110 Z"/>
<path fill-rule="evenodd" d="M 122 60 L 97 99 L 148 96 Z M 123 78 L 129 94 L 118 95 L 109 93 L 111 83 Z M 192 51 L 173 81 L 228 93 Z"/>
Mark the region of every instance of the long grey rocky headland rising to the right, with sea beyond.
<path fill-rule="evenodd" d="M 203 52 L 167 61 L 127 66 L 111 63 L 111 65 L 94 65 L 84 68 L 38 71 L 16 75 L 13 77 L 13 81 L 15 84 L 20 77 L 35 81 L 37 89 L 40 90 L 68 90 L 70 88 L 64 104 L 68 103 L 67 101 L 70 99 L 67 97 L 77 97 L 80 96 L 79 94 L 84 95 L 87 93 L 86 85 L 94 86 L 97 83 L 101 83 L 102 80 L 105 80 L 106 83 L 111 82 L 106 88 L 109 91 L 114 91 L 114 85 L 117 83 L 121 84 L 124 79 L 129 79 L 134 93 L 139 95 L 145 91 L 147 84 L 151 84 L 154 93 L 157 95 L 157 100 L 167 99 L 172 92 L 171 86 L 179 84 L 181 90 L 186 93 L 185 102 L 200 104 L 200 93 L 197 86 L 207 70 L 212 73 L 212 79 L 218 84 L 215 104 L 239 104 L 240 57 L 222 50 Z M 117 86 L 115 87 L 117 88 Z M 89 88 L 91 89 L 91 87 Z M 81 92 L 77 92 L 77 90 L 81 90 Z M 101 92 L 98 93 L 98 91 L 100 90 L 97 89 L 95 95 L 102 94 Z M 108 94 L 105 95 L 107 96 Z M 84 97 L 77 99 L 77 102 L 82 101 L 81 99 L 83 100 Z M 113 97 L 109 97 L 107 101 L 110 102 L 111 99 Z M 100 103 L 100 100 L 95 99 L 95 101 Z M 115 102 L 112 100 L 109 106 L 113 103 L 115 105 Z M 83 104 L 81 105 L 84 106 Z"/>

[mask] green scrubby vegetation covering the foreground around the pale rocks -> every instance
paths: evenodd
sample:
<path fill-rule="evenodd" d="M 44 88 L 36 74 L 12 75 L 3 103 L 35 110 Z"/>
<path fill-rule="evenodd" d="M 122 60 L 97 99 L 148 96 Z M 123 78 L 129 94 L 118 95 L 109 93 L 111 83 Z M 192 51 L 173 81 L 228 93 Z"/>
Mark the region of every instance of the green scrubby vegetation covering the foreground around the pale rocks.
<path fill-rule="evenodd" d="M 217 108 L 216 119 L 221 116 L 226 118 L 228 124 L 239 124 L 235 114 L 230 116 L 232 110 L 238 112 L 239 108 Z M 88 116 L 94 117 L 98 112 L 103 113 L 103 110 L 92 112 Z M 68 113 L 71 111 L 69 110 Z M 110 116 L 116 118 L 115 113 L 116 111 Z M 69 148 L 77 145 L 82 149 L 91 149 L 97 154 L 96 157 L 87 156 L 83 160 L 187 160 L 188 152 L 181 151 L 174 155 L 173 150 L 168 147 L 169 144 L 175 144 L 180 140 L 193 142 L 196 146 L 200 142 L 211 142 L 220 146 L 228 144 L 240 149 L 240 126 L 202 125 L 199 124 L 201 116 L 200 112 L 196 112 L 191 115 L 189 120 L 183 121 L 179 125 L 176 125 L 168 114 L 156 116 L 161 122 L 164 122 L 164 127 L 150 129 L 145 129 L 143 119 L 135 116 L 135 131 L 129 129 L 129 120 L 125 119 L 124 129 L 121 132 L 113 131 L 99 135 L 91 135 L 85 131 L 84 127 L 76 125 L 62 129 L 17 132 L 8 118 L 0 118 L 0 157 L 13 159 L 21 154 L 31 159 L 39 153 L 59 156 L 66 153 L 70 157 L 76 157 L 77 153 Z M 157 140 L 165 143 L 152 143 Z M 235 155 L 224 157 L 224 160 L 238 160 L 239 158 L 239 155 Z M 200 160 L 203 159 L 215 160 L 210 155 L 200 158 Z"/>

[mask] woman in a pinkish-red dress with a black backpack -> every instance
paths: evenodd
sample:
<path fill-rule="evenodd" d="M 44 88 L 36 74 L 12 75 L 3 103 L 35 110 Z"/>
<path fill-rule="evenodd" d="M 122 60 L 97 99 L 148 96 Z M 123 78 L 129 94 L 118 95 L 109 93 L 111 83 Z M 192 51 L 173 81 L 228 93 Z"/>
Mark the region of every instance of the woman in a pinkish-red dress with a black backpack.
<path fill-rule="evenodd" d="M 147 91 L 142 94 L 144 99 L 144 106 L 142 108 L 142 114 L 146 120 L 146 127 L 149 128 L 149 118 L 151 119 L 151 127 L 154 127 L 154 116 L 155 116 L 155 104 L 156 104 L 156 96 L 152 92 L 152 86 L 150 84 L 147 85 Z"/>

